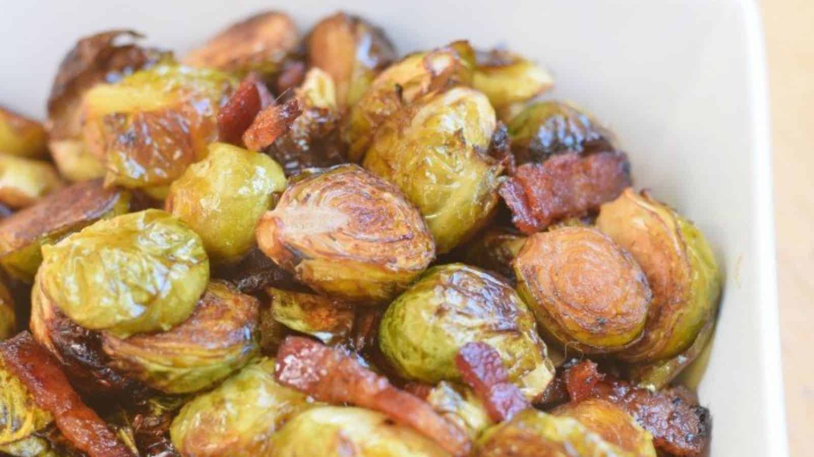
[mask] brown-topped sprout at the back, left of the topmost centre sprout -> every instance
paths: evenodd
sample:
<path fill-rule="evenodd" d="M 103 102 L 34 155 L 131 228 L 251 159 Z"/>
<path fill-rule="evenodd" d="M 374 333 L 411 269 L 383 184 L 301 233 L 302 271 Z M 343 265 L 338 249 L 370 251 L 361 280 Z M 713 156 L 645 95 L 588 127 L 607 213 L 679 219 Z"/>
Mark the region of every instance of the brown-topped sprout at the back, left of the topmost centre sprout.
<path fill-rule="evenodd" d="M 183 59 L 192 67 L 218 68 L 243 76 L 257 72 L 268 80 L 294 54 L 300 33 L 289 15 L 265 11 L 230 25 Z"/>

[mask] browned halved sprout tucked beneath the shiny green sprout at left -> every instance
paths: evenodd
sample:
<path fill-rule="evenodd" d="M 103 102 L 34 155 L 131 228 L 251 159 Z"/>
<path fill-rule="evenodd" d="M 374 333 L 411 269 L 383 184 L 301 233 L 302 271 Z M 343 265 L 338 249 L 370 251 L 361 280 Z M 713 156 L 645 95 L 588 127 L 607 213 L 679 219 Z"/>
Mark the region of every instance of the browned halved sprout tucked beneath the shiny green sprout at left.
<path fill-rule="evenodd" d="M 260 303 L 225 282 L 210 282 L 189 319 L 163 333 L 120 339 L 103 333 L 111 366 L 168 394 L 212 387 L 258 350 Z"/>

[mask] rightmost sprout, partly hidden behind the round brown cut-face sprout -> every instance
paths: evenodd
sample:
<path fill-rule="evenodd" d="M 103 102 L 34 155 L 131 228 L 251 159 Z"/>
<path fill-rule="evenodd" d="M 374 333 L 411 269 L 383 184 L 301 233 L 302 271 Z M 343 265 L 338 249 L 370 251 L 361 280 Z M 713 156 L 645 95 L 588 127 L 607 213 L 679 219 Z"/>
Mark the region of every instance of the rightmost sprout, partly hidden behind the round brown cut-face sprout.
<path fill-rule="evenodd" d="M 687 349 L 720 295 L 718 264 L 703 234 L 650 194 L 629 188 L 602 205 L 597 228 L 630 251 L 653 289 L 644 335 L 619 358 L 654 362 Z"/>

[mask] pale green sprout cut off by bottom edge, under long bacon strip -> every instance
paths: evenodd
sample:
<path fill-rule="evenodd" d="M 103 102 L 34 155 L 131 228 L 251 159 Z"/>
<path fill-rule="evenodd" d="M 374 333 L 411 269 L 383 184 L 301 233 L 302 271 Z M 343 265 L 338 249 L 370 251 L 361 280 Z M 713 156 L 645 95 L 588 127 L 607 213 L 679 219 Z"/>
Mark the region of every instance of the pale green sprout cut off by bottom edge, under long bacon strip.
<path fill-rule="evenodd" d="M 274 457 L 449 457 L 413 429 L 357 407 L 300 412 L 272 436 L 271 446 Z"/>

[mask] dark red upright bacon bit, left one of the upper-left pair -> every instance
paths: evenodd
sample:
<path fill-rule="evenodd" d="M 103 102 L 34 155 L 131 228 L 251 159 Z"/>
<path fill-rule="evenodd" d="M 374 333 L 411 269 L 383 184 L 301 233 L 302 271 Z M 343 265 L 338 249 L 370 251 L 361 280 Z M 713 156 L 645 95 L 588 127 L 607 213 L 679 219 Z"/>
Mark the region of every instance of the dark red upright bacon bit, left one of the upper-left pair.
<path fill-rule="evenodd" d="M 243 133 L 252 125 L 257 113 L 273 103 L 274 98 L 260 77 L 250 73 L 217 114 L 220 140 L 241 146 Z"/>

